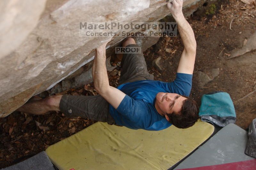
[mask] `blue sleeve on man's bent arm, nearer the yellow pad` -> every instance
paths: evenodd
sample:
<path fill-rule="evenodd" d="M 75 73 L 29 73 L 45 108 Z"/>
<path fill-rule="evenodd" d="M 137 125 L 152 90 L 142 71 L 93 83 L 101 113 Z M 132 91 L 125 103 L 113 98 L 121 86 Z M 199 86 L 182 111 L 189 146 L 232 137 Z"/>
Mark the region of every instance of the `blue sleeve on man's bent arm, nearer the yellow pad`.
<path fill-rule="evenodd" d="M 116 110 L 121 116 L 129 119 L 131 122 L 147 122 L 150 119 L 150 116 L 145 114 L 149 112 L 147 105 L 142 100 L 134 100 L 128 95 L 125 95 Z"/>

